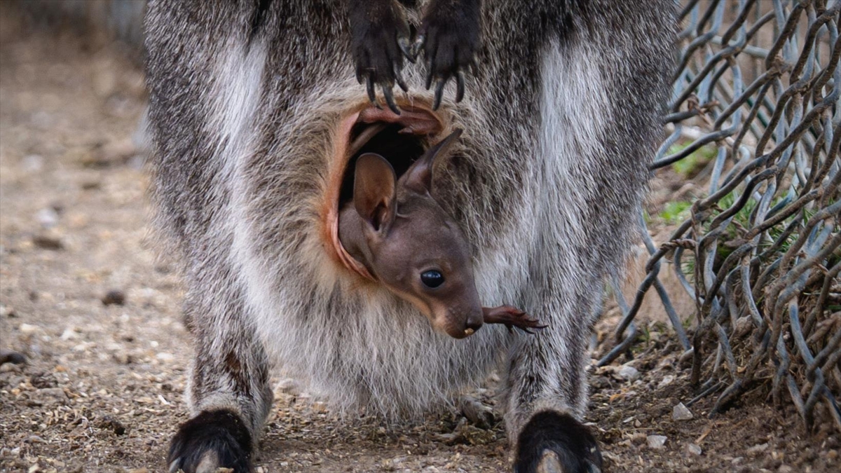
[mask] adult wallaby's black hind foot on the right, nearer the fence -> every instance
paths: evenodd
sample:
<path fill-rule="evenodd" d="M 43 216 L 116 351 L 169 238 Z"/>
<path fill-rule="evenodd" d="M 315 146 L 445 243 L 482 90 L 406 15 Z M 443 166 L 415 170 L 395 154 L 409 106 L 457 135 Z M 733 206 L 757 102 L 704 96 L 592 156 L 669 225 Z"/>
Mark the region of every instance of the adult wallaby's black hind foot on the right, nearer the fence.
<path fill-rule="evenodd" d="M 517 442 L 515 473 L 600 473 L 595 438 L 569 414 L 537 412 Z"/>

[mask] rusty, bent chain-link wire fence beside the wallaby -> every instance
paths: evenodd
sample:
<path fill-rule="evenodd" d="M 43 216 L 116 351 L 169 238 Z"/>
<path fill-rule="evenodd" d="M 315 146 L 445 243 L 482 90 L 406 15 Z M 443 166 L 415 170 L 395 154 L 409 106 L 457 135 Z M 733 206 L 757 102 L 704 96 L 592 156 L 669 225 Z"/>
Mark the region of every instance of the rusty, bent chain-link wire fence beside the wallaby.
<path fill-rule="evenodd" d="M 683 3 L 669 137 L 652 169 L 714 146 L 708 189 L 668 242 L 643 231 L 647 275 L 630 306 L 614 291 L 623 316 L 599 365 L 633 343 L 653 287 L 691 359 L 690 402 L 717 395 L 713 414 L 770 380 L 807 426 L 823 402 L 841 428 L 839 10 L 841 0 Z M 691 336 L 659 280 L 664 262 L 696 301 Z"/>

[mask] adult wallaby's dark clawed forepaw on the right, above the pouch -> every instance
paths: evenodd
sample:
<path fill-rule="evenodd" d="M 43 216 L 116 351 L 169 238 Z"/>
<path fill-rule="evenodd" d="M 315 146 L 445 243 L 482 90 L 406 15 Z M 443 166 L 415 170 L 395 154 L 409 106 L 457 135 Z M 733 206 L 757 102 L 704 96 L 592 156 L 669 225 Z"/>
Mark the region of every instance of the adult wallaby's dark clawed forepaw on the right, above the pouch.
<path fill-rule="evenodd" d="M 438 1 L 430 4 L 413 49 L 423 49 L 426 58 L 426 88 L 435 82 L 438 109 L 444 86 L 456 79 L 456 102 L 464 97 L 464 71 L 474 66 L 479 50 L 480 0 Z M 413 51 L 414 52 L 414 51 Z"/>

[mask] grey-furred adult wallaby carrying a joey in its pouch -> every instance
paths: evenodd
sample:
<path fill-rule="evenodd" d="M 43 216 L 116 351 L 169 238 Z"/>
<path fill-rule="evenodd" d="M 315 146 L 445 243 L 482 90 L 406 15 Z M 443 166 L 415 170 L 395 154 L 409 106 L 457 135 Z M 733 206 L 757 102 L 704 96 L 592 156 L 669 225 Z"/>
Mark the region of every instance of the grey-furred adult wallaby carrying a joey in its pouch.
<path fill-rule="evenodd" d="M 437 112 L 422 92 L 425 66 L 374 77 L 386 66 L 360 65 L 355 48 L 368 43 L 358 24 L 374 17 L 347 14 L 359 3 L 149 5 L 152 195 L 184 263 L 196 349 L 193 418 L 172 441 L 171 468 L 249 468 L 271 406 L 272 362 L 336 407 L 389 417 L 449 401 L 442 393 L 479 382 L 502 358 L 515 470 L 597 470 L 595 439 L 580 423 L 586 341 L 648 177 L 672 3 L 484 0 L 475 73 L 463 77 L 458 54 L 430 61 L 433 78 L 464 89 L 462 102 L 445 96 Z M 425 24 L 423 2 L 374 3 Z M 458 3 L 428 7 L 440 23 L 458 19 L 445 14 Z M 421 31 L 440 48 L 449 43 L 436 35 L 452 24 Z M 399 62 L 389 58 L 389 67 Z M 405 82 L 404 97 L 383 95 L 400 114 L 372 108 L 357 77 L 383 90 Z M 436 200 L 470 242 L 479 299 L 540 316 L 548 328 L 536 336 L 436 332 L 336 251 L 350 144 L 365 136 L 356 156 L 399 157 L 391 163 L 400 175 L 455 127 L 463 141 L 436 178 Z"/>

